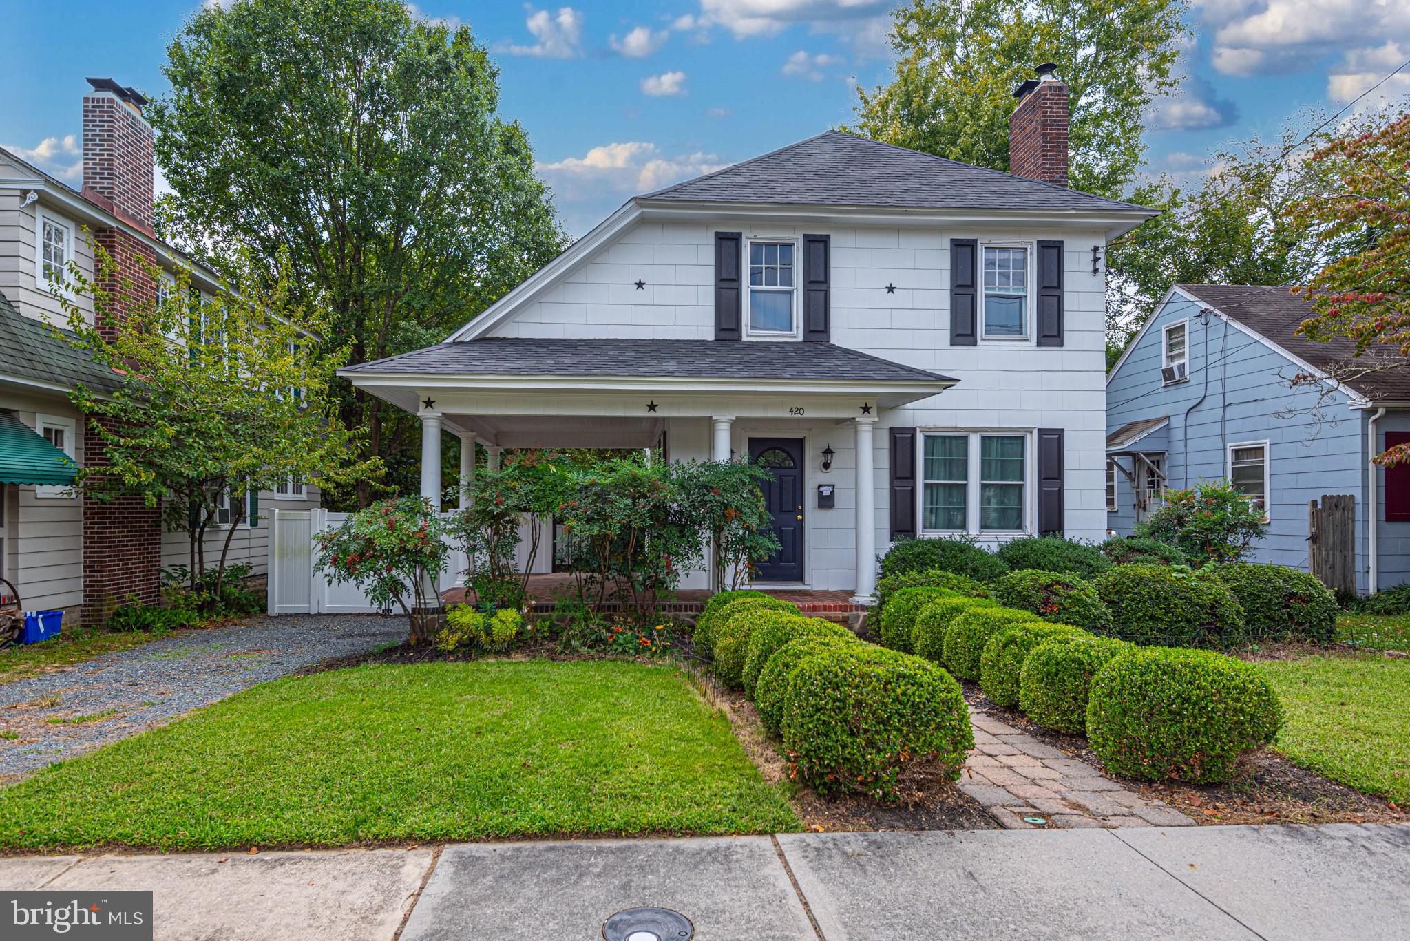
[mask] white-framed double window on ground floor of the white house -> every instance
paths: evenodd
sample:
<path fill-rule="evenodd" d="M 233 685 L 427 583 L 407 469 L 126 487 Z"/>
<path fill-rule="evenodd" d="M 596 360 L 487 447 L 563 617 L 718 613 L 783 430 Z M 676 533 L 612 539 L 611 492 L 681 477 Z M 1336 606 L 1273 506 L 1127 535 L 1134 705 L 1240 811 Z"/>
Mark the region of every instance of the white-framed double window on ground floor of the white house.
<path fill-rule="evenodd" d="M 921 446 L 921 529 L 1003 535 L 1028 528 L 1029 432 L 926 432 Z"/>

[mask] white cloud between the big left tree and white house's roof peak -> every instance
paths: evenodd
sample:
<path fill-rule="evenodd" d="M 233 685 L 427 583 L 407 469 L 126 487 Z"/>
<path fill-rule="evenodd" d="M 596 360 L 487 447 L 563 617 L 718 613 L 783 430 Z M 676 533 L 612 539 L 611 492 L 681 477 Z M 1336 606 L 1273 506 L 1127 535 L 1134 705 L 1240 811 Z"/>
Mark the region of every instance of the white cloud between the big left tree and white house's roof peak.
<path fill-rule="evenodd" d="M 646 193 L 728 165 L 713 154 L 668 157 L 656 144 L 627 141 L 594 147 L 582 157 L 539 164 L 537 171 L 556 195 L 574 202 L 601 198 L 603 190 Z"/>

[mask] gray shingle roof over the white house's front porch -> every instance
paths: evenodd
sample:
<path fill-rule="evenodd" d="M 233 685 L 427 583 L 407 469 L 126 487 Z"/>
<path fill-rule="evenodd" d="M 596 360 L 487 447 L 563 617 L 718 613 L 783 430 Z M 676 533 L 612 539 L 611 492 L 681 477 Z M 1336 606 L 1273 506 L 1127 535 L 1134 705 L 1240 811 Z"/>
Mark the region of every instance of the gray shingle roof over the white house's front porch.
<path fill-rule="evenodd" d="M 955 381 L 830 343 L 519 337 L 439 343 L 415 353 L 351 365 L 341 372 Z"/>

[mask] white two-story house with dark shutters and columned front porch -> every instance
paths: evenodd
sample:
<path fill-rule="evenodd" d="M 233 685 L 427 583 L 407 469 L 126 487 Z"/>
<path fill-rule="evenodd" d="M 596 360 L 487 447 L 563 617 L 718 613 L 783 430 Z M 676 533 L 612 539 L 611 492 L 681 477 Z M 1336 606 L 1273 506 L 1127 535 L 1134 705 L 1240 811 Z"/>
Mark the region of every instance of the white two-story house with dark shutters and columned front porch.
<path fill-rule="evenodd" d="M 441 430 L 492 461 L 759 460 L 774 587 L 864 601 L 911 536 L 1100 540 L 1105 245 L 1155 213 L 1066 186 L 1041 72 L 1008 174 L 828 131 L 633 198 L 444 343 L 343 375 L 422 418 L 437 504 Z"/>

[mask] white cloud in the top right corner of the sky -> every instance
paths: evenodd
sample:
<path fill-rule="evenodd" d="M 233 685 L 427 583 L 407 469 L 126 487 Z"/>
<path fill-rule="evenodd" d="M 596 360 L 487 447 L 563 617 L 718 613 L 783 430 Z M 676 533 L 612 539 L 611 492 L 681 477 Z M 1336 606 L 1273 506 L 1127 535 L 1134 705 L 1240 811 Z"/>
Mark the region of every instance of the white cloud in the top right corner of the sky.
<path fill-rule="evenodd" d="M 1214 68 L 1225 75 L 1307 71 L 1328 52 L 1368 48 L 1372 37 L 1410 41 L 1404 0 L 1196 0 L 1196 6 L 1214 35 Z"/>

